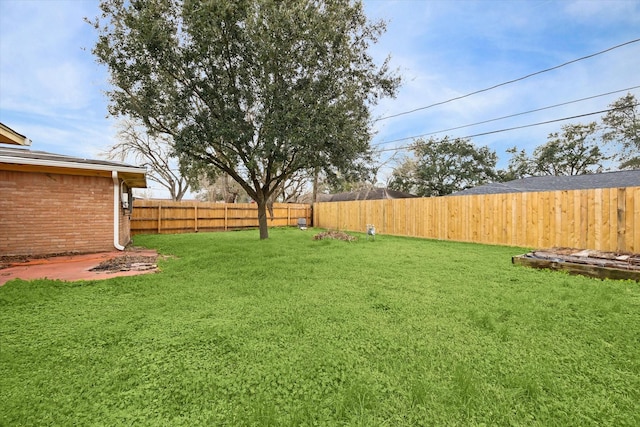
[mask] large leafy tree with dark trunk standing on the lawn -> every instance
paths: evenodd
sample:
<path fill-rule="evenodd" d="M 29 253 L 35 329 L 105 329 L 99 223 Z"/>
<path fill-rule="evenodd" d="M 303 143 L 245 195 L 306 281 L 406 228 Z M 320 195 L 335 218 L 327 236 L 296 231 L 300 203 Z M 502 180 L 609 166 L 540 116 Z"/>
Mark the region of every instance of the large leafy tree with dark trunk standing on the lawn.
<path fill-rule="evenodd" d="M 385 29 L 349 0 L 103 0 L 93 49 L 110 113 L 170 134 L 177 153 L 231 176 L 258 206 L 299 170 L 349 169 L 369 150 L 370 107 L 393 96 Z"/>

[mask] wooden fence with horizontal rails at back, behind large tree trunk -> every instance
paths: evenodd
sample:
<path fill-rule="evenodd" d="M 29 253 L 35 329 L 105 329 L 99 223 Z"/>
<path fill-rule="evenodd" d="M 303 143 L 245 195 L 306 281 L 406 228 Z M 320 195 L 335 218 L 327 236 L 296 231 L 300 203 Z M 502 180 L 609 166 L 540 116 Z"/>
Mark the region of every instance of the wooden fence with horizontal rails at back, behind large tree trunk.
<path fill-rule="evenodd" d="M 298 218 L 311 223 L 311 206 L 274 203 L 270 227 L 296 226 Z M 197 201 L 135 200 L 131 235 L 226 231 L 258 227 L 255 203 L 209 203 Z"/>

